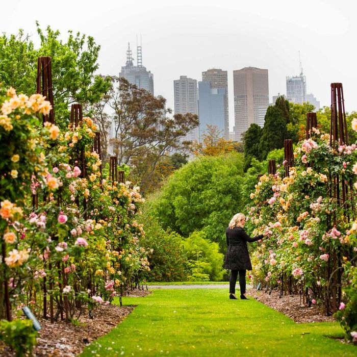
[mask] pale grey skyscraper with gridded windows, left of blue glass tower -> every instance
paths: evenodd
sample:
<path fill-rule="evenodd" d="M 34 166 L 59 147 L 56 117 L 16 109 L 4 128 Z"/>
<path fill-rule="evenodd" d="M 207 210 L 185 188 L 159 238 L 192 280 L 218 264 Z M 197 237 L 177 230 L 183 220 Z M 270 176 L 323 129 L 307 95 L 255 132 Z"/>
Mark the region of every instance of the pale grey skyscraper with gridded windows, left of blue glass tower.
<path fill-rule="evenodd" d="M 180 75 L 179 80 L 173 81 L 173 94 L 175 114 L 198 114 L 196 80 L 187 78 L 186 75 Z M 199 140 L 198 126 L 186 134 L 182 141 L 185 140 Z"/>

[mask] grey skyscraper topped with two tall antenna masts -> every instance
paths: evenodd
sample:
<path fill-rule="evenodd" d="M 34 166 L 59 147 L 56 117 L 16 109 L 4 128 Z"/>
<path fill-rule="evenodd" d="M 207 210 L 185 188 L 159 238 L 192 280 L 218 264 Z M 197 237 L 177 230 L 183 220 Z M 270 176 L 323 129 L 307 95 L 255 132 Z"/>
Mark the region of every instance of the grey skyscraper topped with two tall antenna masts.
<path fill-rule="evenodd" d="M 126 51 L 126 63 L 121 67 L 119 77 L 124 77 L 129 83 L 135 84 L 138 88 L 146 89 L 154 95 L 154 74 L 147 71 L 142 65 L 141 46 L 137 46 L 137 65 L 133 64 L 132 50 L 128 43 Z"/>

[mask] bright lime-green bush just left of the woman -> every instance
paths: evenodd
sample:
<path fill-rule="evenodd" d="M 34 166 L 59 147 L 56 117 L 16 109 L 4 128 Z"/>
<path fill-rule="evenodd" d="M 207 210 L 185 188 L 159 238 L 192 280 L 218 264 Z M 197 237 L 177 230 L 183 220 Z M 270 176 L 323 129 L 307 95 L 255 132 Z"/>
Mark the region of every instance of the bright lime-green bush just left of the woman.
<path fill-rule="evenodd" d="M 184 239 L 183 247 L 187 255 L 191 281 L 216 281 L 222 280 L 223 254 L 219 246 L 206 238 L 203 232 L 193 232 Z"/>

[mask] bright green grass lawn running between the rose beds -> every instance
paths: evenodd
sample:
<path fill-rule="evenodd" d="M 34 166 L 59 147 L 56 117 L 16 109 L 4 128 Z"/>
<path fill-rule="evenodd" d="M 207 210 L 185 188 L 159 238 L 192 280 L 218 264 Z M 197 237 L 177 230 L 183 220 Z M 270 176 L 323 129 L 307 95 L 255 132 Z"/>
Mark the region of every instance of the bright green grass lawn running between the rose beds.
<path fill-rule="evenodd" d="M 260 302 L 229 300 L 226 289 L 158 289 L 83 356 L 357 356 L 338 323 L 296 324 Z"/>

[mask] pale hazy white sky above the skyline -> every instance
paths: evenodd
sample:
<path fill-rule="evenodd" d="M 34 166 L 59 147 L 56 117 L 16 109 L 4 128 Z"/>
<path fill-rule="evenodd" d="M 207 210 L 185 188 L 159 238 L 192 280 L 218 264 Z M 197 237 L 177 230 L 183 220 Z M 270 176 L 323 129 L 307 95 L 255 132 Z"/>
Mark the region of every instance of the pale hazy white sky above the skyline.
<path fill-rule="evenodd" d="M 1 32 L 34 34 L 35 20 L 66 37 L 80 31 L 100 44 L 99 73 L 118 74 L 131 43 L 142 36 L 143 65 L 154 73 L 155 95 L 173 108 L 173 80 L 200 81 L 209 68 L 228 71 L 230 127 L 234 125 L 233 70 L 269 70 L 270 101 L 286 94 L 286 76 L 298 75 L 299 55 L 308 93 L 330 105 L 330 83 L 342 82 L 347 111 L 357 110 L 357 5 L 352 0 L 18 0 L 1 4 Z"/>

